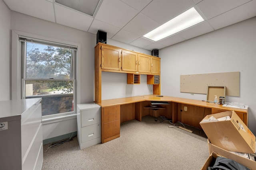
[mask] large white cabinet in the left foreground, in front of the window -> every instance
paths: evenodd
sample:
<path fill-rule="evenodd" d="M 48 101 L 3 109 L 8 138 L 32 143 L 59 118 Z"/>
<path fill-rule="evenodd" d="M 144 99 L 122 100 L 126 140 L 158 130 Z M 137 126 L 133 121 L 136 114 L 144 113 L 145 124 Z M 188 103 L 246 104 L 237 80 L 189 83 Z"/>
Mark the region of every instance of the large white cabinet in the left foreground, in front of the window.
<path fill-rule="evenodd" d="M 0 169 L 42 169 L 41 100 L 0 101 Z"/>

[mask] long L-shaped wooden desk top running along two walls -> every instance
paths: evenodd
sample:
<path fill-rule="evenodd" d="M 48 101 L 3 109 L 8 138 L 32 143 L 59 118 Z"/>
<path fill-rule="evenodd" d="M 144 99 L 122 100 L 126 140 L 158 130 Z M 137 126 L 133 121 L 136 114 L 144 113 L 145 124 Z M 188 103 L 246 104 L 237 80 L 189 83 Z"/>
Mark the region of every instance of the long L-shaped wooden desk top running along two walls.
<path fill-rule="evenodd" d="M 188 105 L 193 105 L 193 106 L 221 109 L 221 110 L 226 110 L 226 111 L 234 110 L 234 111 L 237 111 L 240 113 L 248 113 L 248 109 L 239 109 L 239 108 L 234 108 L 234 107 L 222 107 L 222 105 L 220 105 L 220 104 L 203 102 L 201 100 L 177 98 L 177 97 L 171 97 L 171 96 L 158 97 L 156 95 L 144 95 L 144 96 L 135 96 L 135 97 L 128 97 L 128 98 L 102 100 L 102 102 L 99 103 L 98 105 L 100 105 L 101 107 L 107 107 L 107 106 L 130 104 L 130 103 L 143 102 L 143 101 L 175 102 L 175 103 L 188 104 Z"/>

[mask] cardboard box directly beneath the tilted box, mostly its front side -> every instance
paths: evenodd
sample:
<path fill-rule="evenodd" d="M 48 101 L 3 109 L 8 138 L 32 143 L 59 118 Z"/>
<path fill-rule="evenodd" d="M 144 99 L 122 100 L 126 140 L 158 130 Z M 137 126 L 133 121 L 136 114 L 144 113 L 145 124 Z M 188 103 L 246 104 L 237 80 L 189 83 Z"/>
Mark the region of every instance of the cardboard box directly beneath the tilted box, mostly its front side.
<path fill-rule="evenodd" d="M 217 147 L 210 143 L 210 140 L 208 139 L 208 147 L 209 147 L 209 154 L 212 152 L 217 153 L 218 155 L 224 156 L 226 158 L 232 159 L 252 170 L 256 169 L 256 161 L 250 160 L 248 158 L 245 158 L 243 156 L 239 156 L 238 154 L 229 152 L 225 149 L 221 149 L 220 147 Z"/>

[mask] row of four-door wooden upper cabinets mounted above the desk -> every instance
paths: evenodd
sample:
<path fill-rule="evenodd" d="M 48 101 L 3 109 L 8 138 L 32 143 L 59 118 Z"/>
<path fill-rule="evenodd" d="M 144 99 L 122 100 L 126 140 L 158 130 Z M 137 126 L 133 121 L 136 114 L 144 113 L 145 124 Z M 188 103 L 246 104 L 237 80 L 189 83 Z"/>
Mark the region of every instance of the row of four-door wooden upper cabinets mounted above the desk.
<path fill-rule="evenodd" d="M 98 43 L 95 57 L 96 68 L 108 72 L 132 74 L 160 74 L 160 58 L 135 51 Z"/>

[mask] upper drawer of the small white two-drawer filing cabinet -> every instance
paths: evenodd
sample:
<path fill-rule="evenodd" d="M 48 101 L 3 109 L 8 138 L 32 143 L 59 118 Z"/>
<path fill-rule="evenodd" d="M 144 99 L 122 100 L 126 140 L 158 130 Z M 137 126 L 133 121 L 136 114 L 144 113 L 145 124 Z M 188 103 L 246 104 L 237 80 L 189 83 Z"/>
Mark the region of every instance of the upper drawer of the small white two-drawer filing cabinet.
<path fill-rule="evenodd" d="M 81 127 L 100 123 L 100 108 L 81 111 Z"/>

